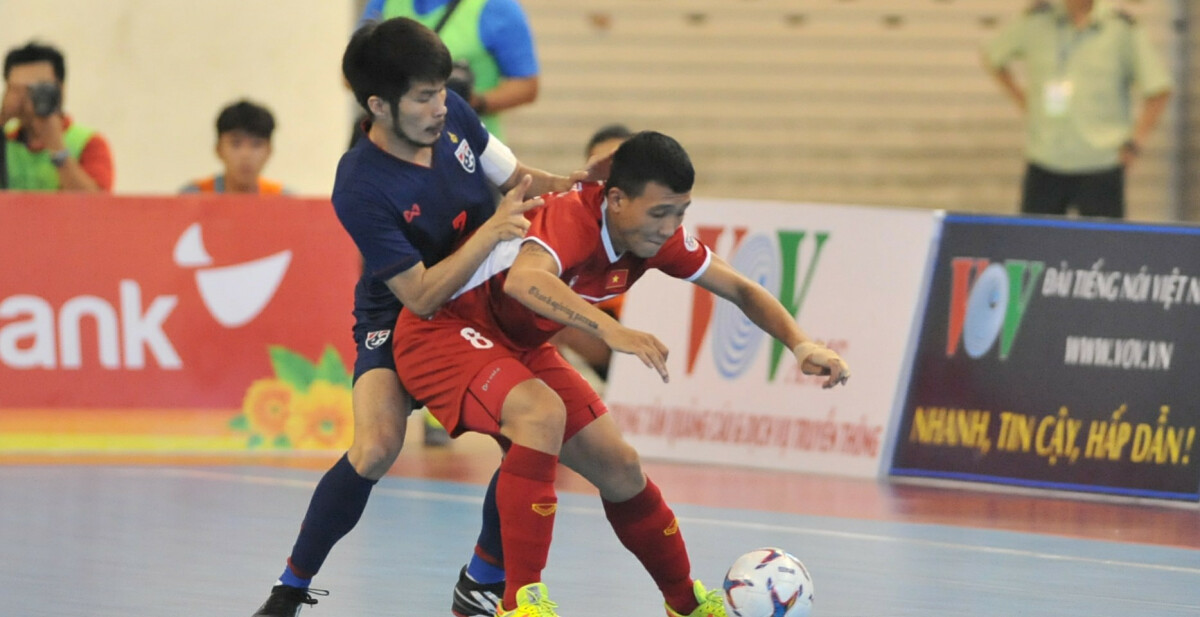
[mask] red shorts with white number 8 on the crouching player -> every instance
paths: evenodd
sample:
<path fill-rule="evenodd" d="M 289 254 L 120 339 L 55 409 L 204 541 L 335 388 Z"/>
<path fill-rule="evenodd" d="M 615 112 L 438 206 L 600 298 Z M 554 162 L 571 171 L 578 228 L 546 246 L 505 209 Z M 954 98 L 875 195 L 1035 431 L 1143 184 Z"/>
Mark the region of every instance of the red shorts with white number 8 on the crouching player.
<path fill-rule="evenodd" d="M 445 313 L 426 321 L 408 311 L 401 313 L 392 339 L 401 383 L 450 435 L 474 431 L 500 437 L 504 399 L 527 379 L 541 379 L 563 400 L 564 443 L 608 411 L 550 343 L 518 349 L 473 322 Z"/>

